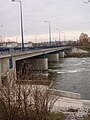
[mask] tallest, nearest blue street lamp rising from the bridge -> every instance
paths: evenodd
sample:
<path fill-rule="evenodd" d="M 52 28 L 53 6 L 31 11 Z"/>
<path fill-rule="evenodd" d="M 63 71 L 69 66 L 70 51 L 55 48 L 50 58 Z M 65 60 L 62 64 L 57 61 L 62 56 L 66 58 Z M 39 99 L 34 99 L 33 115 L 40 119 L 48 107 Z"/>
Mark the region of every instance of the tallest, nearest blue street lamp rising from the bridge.
<path fill-rule="evenodd" d="M 23 32 L 23 16 L 22 16 L 22 1 L 20 0 L 12 0 L 12 2 L 19 2 L 20 3 L 20 23 L 21 23 L 21 38 L 22 38 L 22 51 L 24 51 L 24 32 Z"/>

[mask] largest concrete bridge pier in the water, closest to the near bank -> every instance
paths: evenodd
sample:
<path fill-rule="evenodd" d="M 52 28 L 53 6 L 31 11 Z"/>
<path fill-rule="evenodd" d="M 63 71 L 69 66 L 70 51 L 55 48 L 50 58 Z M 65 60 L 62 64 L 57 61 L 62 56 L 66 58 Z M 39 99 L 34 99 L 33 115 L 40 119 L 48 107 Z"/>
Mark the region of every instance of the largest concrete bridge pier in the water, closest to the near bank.
<path fill-rule="evenodd" d="M 31 68 L 32 70 L 48 70 L 48 58 L 47 55 L 40 55 L 34 58 L 31 58 Z"/>

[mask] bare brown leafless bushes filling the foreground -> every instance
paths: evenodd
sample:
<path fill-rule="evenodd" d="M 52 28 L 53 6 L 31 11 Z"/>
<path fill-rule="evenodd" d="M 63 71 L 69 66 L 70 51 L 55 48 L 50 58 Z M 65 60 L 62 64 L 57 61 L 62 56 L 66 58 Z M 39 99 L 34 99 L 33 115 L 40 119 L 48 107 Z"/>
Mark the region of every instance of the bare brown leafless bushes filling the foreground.
<path fill-rule="evenodd" d="M 58 97 L 45 86 L 16 84 L 13 75 L 0 87 L 0 120 L 51 120 Z"/>

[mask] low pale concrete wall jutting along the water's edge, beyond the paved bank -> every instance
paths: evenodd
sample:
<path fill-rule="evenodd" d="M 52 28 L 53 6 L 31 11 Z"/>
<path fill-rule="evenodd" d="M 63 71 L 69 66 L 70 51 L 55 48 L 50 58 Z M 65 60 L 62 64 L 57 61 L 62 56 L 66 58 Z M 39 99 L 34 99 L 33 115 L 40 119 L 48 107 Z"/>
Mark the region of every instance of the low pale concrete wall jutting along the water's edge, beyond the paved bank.
<path fill-rule="evenodd" d="M 48 89 L 50 94 L 60 96 L 60 97 L 67 97 L 72 99 L 81 99 L 81 95 L 79 93 L 73 93 L 73 92 L 67 92 L 62 90 L 56 90 L 56 89 Z"/>

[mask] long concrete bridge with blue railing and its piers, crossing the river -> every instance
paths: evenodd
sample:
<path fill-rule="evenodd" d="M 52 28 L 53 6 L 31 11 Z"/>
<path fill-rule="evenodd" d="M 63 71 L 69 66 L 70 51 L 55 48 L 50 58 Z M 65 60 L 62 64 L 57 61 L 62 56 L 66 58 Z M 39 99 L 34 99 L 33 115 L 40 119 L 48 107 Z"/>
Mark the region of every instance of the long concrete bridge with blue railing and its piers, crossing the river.
<path fill-rule="evenodd" d="M 21 69 L 25 71 L 30 67 L 32 70 L 48 70 L 49 62 L 58 62 L 60 57 L 64 57 L 64 51 L 71 47 L 37 47 L 26 49 L 25 51 L 8 49 L 0 53 L 0 85 L 11 73 L 17 74 Z M 23 65 L 24 64 L 24 65 Z M 21 74 L 23 74 L 23 71 Z"/>

